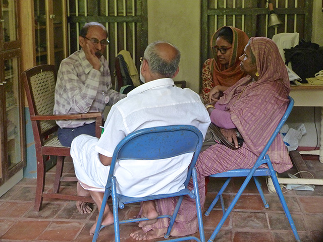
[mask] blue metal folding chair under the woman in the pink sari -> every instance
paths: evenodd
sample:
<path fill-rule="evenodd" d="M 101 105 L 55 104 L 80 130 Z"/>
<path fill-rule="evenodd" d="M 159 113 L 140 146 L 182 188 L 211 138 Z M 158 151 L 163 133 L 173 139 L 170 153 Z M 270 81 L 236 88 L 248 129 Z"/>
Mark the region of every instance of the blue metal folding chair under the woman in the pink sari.
<path fill-rule="evenodd" d="M 282 126 L 284 125 L 286 119 L 288 118 L 288 116 L 289 116 L 289 114 L 290 114 L 290 112 L 291 112 L 291 110 L 293 108 L 294 100 L 291 97 L 288 97 L 288 98 L 289 98 L 289 105 L 287 107 L 287 110 L 286 110 L 284 116 L 282 117 L 282 119 L 281 119 L 280 123 L 278 124 L 276 130 L 274 131 L 273 135 L 271 136 L 271 138 L 267 142 L 267 144 L 264 147 L 263 151 L 259 155 L 259 158 L 257 159 L 256 163 L 253 165 L 253 167 L 251 169 L 236 169 L 236 170 L 229 170 L 229 171 L 226 171 L 226 172 L 209 175 L 211 177 L 228 177 L 228 179 L 225 181 L 225 184 L 220 189 L 218 195 L 213 200 L 213 202 L 211 203 L 211 205 L 209 206 L 207 211 L 204 213 L 205 216 L 208 216 L 209 213 L 211 212 L 211 210 L 213 209 L 213 207 L 216 205 L 216 203 L 218 202 L 218 200 L 220 198 L 221 206 L 222 206 L 222 210 L 223 210 L 223 217 L 220 220 L 220 222 L 218 223 L 216 229 L 214 229 L 211 237 L 208 239 L 208 242 L 213 241 L 214 238 L 217 236 L 217 234 L 220 231 L 222 225 L 224 224 L 225 220 L 228 218 L 230 212 L 232 211 L 234 205 L 237 203 L 237 201 L 240 198 L 242 192 L 244 191 L 244 189 L 248 185 L 251 177 L 253 177 L 253 179 L 255 181 L 256 187 L 257 187 L 257 189 L 259 191 L 259 194 L 261 196 L 261 199 L 262 199 L 262 202 L 264 204 L 264 207 L 265 208 L 269 207 L 269 205 L 266 202 L 266 199 L 265 199 L 265 197 L 263 195 L 261 185 L 260 185 L 260 183 L 259 183 L 259 181 L 257 179 L 257 176 L 268 176 L 268 175 L 270 175 L 272 180 L 273 180 L 275 190 L 276 190 L 276 192 L 278 194 L 278 197 L 279 197 L 280 202 L 281 202 L 281 204 L 283 206 L 283 209 L 284 209 L 285 214 L 286 214 L 286 216 L 288 218 L 288 221 L 289 221 L 289 223 L 290 223 L 290 225 L 292 227 L 292 230 L 293 230 L 293 233 L 295 235 L 295 238 L 296 238 L 297 241 L 301 241 L 300 238 L 299 238 L 299 235 L 297 233 L 295 224 L 293 222 L 292 216 L 291 216 L 291 214 L 289 212 L 289 209 L 287 207 L 287 204 L 286 204 L 285 198 L 283 196 L 282 190 L 281 190 L 281 188 L 279 186 L 278 179 L 277 179 L 277 176 L 276 176 L 276 171 L 273 168 L 273 164 L 271 162 L 271 159 L 266 154 L 269 147 L 272 145 L 274 139 L 279 134 L 279 131 L 281 130 Z M 267 164 L 268 168 L 258 168 L 262 164 Z M 223 201 L 222 193 L 227 188 L 227 186 L 230 183 L 230 180 L 231 180 L 232 177 L 244 177 L 244 176 L 246 176 L 246 179 L 244 180 L 244 183 L 240 187 L 237 195 L 234 197 L 233 201 L 231 202 L 231 204 L 229 205 L 229 207 L 228 207 L 228 209 L 226 211 L 225 207 L 224 207 L 224 201 Z"/>

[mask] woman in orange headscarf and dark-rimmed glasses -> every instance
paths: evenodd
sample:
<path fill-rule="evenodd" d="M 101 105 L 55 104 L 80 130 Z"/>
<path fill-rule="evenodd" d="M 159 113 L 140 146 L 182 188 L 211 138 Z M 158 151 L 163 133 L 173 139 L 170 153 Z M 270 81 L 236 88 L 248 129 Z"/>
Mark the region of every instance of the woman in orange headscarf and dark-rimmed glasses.
<path fill-rule="evenodd" d="M 245 32 L 232 26 L 223 26 L 212 35 L 211 49 L 214 58 L 207 59 L 202 68 L 202 97 L 204 103 L 210 102 L 211 95 L 233 86 L 245 76 L 240 70 L 239 57 L 248 43 Z"/>

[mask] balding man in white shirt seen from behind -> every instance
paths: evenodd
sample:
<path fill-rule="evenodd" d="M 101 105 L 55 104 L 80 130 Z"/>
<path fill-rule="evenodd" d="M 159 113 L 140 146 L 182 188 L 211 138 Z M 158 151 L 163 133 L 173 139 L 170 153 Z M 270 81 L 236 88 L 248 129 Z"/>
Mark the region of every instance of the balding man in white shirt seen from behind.
<path fill-rule="evenodd" d="M 123 138 L 140 129 L 168 125 L 193 125 L 205 136 L 210 123 L 199 95 L 174 85 L 172 78 L 179 71 L 180 61 L 180 51 L 174 45 L 160 41 L 151 43 L 141 61 L 140 78 L 144 84 L 113 105 L 101 138 L 98 140 L 80 135 L 72 142 L 71 156 L 79 180 L 78 193 L 84 196 L 84 191 L 88 191 L 88 196 L 93 198 L 98 209 L 101 207 L 113 152 Z M 117 192 L 125 196 L 143 197 L 179 191 L 191 158 L 192 154 L 184 154 L 144 163 L 140 160 L 120 160 L 115 168 Z M 149 187 L 149 190 L 143 187 Z M 154 203 L 145 203 L 147 209 L 143 210 L 143 216 L 153 221 L 158 216 L 151 207 Z M 102 224 L 112 223 L 113 213 L 106 206 Z M 94 233 L 95 225 L 90 229 L 90 234 Z"/>

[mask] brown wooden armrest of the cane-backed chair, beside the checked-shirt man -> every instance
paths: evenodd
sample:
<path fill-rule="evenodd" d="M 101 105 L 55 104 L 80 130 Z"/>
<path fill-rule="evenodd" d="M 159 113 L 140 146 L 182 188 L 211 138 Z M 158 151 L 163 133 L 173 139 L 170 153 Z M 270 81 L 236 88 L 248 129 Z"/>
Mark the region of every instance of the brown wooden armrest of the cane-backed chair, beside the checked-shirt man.
<path fill-rule="evenodd" d="M 51 115 L 34 115 L 30 116 L 32 121 L 41 120 L 60 120 L 60 119 L 81 119 L 81 118 L 93 118 L 95 117 L 95 136 L 100 138 L 102 125 L 102 113 L 100 112 L 88 112 L 88 113 L 78 113 L 78 114 L 51 114 Z"/>

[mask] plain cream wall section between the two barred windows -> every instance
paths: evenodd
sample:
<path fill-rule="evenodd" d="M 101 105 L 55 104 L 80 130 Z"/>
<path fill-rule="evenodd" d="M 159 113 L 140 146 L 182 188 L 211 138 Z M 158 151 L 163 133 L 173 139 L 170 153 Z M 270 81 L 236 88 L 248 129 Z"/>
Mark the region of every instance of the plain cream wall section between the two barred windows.
<path fill-rule="evenodd" d="M 181 51 L 176 81 L 199 91 L 200 0 L 148 0 L 148 43 L 169 41 Z"/>

